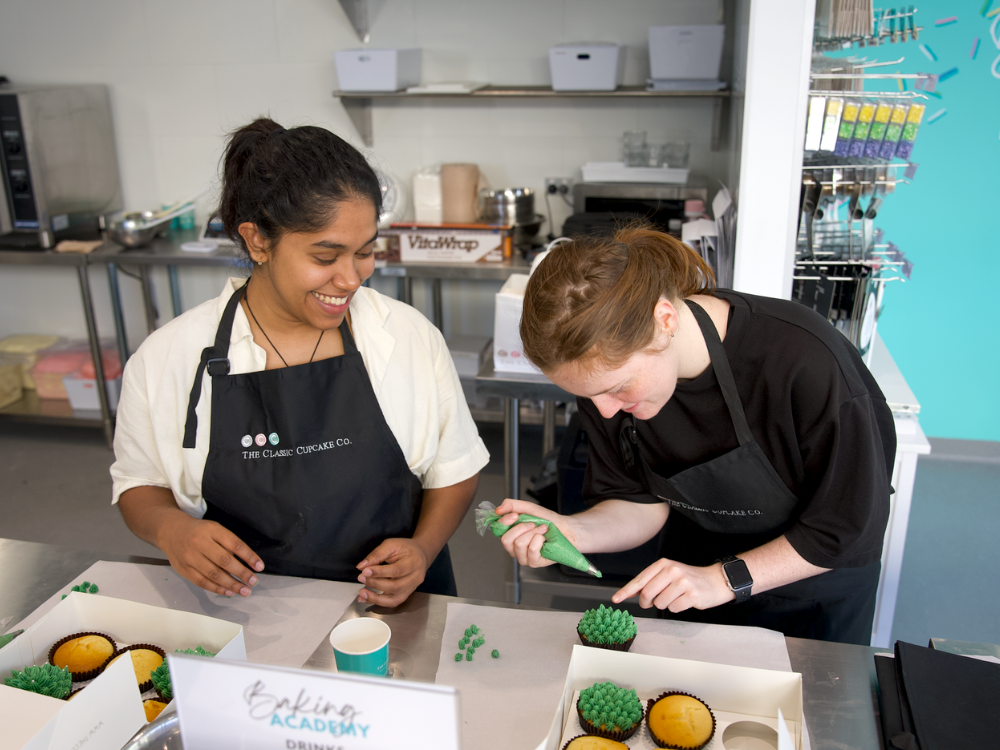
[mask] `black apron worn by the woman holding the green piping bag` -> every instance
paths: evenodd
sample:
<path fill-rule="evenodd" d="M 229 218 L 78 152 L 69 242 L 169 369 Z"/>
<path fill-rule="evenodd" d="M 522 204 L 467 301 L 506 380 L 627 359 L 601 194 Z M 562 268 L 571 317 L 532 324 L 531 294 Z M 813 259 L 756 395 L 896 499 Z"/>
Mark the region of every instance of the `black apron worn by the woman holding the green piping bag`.
<path fill-rule="evenodd" d="M 799 500 L 750 432 L 715 324 L 697 303 L 687 300 L 687 305 L 705 337 L 738 446 L 667 478 L 652 471 L 642 457 L 631 415 L 622 422 L 618 440 L 626 468 L 638 464 L 646 489 L 670 506 L 661 554 L 704 566 L 781 536 L 795 522 Z M 798 638 L 868 645 L 880 568 L 880 563 L 838 568 L 754 594 L 742 604 L 662 614 L 678 620 L 754 625 Z"/>

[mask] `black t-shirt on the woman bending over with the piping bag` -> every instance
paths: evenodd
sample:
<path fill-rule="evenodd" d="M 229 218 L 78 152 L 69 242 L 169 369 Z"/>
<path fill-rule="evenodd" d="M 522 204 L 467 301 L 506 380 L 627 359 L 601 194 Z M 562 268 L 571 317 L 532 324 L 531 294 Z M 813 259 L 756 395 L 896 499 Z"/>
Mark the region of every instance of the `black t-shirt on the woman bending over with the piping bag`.
<path fill-rule="evenodd" d="M 671 512 L 661 555 L 692 565 L 745 552 L 782 533 L 808 562 L 853 568 L 877 562 L 889 517 L 889 476 L 896 453 L 892 414 L 857 350 L 814 311 L 786 300 L 731 291 L 723 346 L 750 431 L 799 502 L 791 520 L 767 534 L 718 534 Z M 591 443 L 583 494 L 588 503 L 617 498 L 661 502 L 640 469 L 626 469 L 618 445 L 625 415 L 601 417 L 579 398 Z M 636 420 L 640 451 L 654 472 L 671 477 L 738 446 L 711 366 L 681 381 L 649 420 Z"/>

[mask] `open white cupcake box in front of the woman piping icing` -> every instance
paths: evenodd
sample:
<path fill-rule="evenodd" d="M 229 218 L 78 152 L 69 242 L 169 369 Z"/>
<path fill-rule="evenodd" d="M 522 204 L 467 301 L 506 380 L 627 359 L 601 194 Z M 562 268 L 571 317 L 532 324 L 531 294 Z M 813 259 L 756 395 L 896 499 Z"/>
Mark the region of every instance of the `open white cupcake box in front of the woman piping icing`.
<path fill-rule="evenodd" d="M 649 698 L 684 692 L 701 699 L 715 715 L 716 729 L 705 750 L 802 747 L 802 675 L 769 669 L 645 656 L 586 646 L 574 646 L 562 699 L 545 740 L 536 750 L 560 750 L 585 734 L 576 700 L 584 688 L 610 680 L 635 689 L 643 711 Z M 780 717 L 780 718 L 779 718 Z M 643 726 L 625 740 L 630 748 L 656 748 Z"/>

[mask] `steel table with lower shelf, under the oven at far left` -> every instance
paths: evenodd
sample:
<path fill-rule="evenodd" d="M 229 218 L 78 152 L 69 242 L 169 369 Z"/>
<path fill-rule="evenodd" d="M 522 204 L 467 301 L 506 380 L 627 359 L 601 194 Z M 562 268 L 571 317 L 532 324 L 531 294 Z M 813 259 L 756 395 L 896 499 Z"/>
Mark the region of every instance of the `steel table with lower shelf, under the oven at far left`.
<path fill-rule="evenodd" d="M 94 304 L 90 294 L 90 277 L 87 275 L 89 256 L 80 253 L 57 253 L 55 250 L 0 250 L 0 265 L 5 266 L 55 266 L 76 269 L 80 284 L 83 317 L 87 326 L 87 340 L 90 356 L 94 361 L 94 372 L 98 383 L 104 382 L 104 361 L 101 359 L 101 345 L 94 317 Z M 124 360 L 123 360 L 124 361 Z M 31 422 L 48 422 L 64 425 L 101 427 L 104 437 L 111 445 L 113 427 L 108 393 L 105 388 L 97 389 L 100 409 L 74 411 L 68 401 L 46 401 L 39 399 L 34 391 L 25 393 L 20 401 L 0 409 L 0 417 Z"/>

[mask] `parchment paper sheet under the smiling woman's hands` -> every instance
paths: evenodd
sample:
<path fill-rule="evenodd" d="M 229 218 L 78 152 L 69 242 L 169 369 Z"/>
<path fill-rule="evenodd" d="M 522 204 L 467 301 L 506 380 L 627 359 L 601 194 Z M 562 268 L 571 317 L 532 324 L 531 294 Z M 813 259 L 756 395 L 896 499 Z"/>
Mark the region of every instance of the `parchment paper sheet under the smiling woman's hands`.
<path fill-rule="evenodd" d="M 90 581 L 99 589 L 94 596 L 194 612 L 242 625 L 248 661 L 301 667 L 361 588 L 357 583 L 310 578 L 257 577 L 260 583 L 250 596 L 227 599 L 189 583 L 166 565 L 100 561 L 67 583 L 14 629 L 34 624 L 73 586 Z"/>

